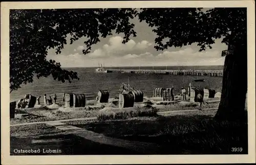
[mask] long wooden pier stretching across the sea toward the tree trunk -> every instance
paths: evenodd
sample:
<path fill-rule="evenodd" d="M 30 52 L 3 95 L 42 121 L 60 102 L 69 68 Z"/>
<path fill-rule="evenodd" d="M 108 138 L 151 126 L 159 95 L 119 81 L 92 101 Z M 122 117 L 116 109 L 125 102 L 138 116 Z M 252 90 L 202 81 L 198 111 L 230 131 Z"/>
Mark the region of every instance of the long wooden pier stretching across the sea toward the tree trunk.
<path fill-rule="evenodd" d="M 168 74 L 168 75 L 197 75 L 222 77 L 223 70 L 153 70 L 153 69 L 108 69 L 108 73 L 137 73 L 137 74 Z"/>

